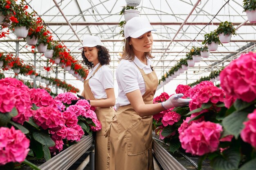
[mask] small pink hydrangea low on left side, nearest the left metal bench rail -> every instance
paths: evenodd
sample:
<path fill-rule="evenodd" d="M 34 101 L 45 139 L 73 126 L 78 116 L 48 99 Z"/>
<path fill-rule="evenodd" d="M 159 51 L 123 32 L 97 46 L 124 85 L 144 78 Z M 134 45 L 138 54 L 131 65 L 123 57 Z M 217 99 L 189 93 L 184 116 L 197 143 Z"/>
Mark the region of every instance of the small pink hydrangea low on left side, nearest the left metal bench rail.
<path fill-rule="evenodd" d="M 84 135 L 83 129 L 78 124 L 73 127 L 67 128 L 67 140 L 80 141 Z"/>

